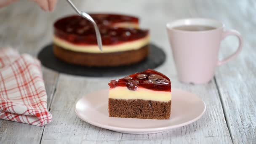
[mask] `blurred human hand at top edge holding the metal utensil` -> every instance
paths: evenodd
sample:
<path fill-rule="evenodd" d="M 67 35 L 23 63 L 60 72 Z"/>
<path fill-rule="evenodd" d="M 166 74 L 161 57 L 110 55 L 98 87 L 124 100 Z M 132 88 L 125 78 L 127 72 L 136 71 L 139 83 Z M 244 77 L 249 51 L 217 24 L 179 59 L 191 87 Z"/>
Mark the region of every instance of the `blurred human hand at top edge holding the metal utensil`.
<path fill-rule="evenodd" d="M 18 0 L 0 0 L 0 8 Z M 37 3 L 44 11 L 53 11 L 58 0 L 32 0 Z"/>

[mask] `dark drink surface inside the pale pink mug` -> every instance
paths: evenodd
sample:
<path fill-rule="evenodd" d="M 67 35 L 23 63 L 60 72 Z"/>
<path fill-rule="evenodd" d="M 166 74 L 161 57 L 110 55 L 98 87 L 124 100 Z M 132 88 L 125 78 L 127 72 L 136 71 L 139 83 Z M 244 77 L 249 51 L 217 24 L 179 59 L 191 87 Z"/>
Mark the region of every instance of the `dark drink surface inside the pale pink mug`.
<path fill-rule="evenodd" d="M 216 29 L 216 27 L 200 26 L 200 25 L 184 25 L 184 26 L 174 27 L 173 29 L 184 30 L 184 31 L 205 31 L 205 30 Z"/>

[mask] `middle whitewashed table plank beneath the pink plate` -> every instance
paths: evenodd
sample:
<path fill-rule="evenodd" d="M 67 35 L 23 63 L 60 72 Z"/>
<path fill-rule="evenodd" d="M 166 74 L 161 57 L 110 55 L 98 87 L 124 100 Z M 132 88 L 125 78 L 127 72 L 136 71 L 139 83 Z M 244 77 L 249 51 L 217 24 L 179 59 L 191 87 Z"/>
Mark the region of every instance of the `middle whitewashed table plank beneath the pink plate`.
<path fill-rule="evenodd" d="M 101 3 L 101 5 L 99 5 Z M 115 4 L 113 4 L 115 3 Z M 205 4 L 205 3 L 204 3 Z M 125 7 L 123 6 L 125 5 Z M 179 11 L 187 6 L 184 11 Z M 209 7 L 211 5 L 208 5 Z M 205 115 L 195 123 L 173 129 L 172 131 L 156 134 L 134 135 L 124 134 L 98 128 L 83 120 L 75 114 L 75 103 L 85 94 L 107 88 L 112 78 L 89 78 L 60 75 L 56 93 L 51 106 L 53 122 L 45 126 L 42 144 L 48 143 L 232 143 L 221 101 L 213 82 L 208 85 L 185 85 L 177 80 L 175 66 L 165 32 L 167 21 L 184 16 L 196 16 L 194 2 L 178 2 L 162 0 L 131 0 L 120 2 L 118 0 L 83 1 L 80 5 L 87 11 L 109 11 L 129 13 L 140 16 L 141 27 L 151 31 L 152 41 L 163 47 L 167 53 L 167 61 L 157 70 L 171 77 L 172 85 L 199 95 L 206 103 Z M 132 8 L 132 9 L 131 9 Z M 177 11 L 175 11 L 177 10 Z M 206 13 L 206 10 L 202 11 Z M 221 141 L 220 141 L 221 139 Z"/>

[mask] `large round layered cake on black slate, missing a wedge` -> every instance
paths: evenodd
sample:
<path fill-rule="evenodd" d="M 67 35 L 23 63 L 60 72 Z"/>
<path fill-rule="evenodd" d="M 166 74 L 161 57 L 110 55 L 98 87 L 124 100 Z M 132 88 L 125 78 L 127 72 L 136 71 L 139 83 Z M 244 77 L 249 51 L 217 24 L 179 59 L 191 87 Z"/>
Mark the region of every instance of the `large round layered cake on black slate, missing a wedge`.
<path fill-rule="evenodd" d="M 149 31 L 139 29 L 139 19 L 119 14 L 90 14 L 101 32 L 99 50 L 93 24 L 81 16 L 54 23 L 53 53 L 70 64 L 116 67 L 142 61 L 149 53 Z"/>

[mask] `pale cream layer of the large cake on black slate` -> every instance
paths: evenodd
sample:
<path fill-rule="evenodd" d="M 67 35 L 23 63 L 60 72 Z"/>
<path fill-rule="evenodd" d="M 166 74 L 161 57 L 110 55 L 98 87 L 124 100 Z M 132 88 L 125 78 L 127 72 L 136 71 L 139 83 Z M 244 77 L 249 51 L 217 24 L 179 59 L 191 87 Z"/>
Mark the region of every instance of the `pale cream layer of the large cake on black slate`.
<path fill-rule="evenodd" d="M 141 38 L 139 40 L 133 40 L 121 44 L 116 45 L 103 45 L 103 51 L 99 50 L 97 45 L 76 45 L 73 43 L 69 43 L 66 40 L 62 40 L 61 38 L 54 36 L 53 43 L 59 45 L 62 48 L 66 48 L 70 51 L 84 52 L 84 53 L 113 53 L 120 51 L 132 51 L 138 50 L 149 43 L 150 37 Z"/>

